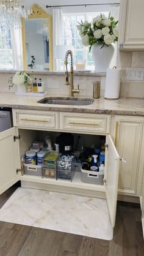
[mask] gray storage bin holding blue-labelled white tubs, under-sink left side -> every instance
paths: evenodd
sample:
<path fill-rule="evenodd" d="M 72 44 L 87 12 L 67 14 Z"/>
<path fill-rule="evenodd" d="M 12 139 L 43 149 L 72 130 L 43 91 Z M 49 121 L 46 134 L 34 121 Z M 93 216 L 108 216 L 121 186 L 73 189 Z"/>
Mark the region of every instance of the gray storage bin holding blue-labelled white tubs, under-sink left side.
<path fill-rule="evenodd" d="M 25 175 L 41 176 L 41 165 L 31 165 L 23 163 L 23 167 Z"/>

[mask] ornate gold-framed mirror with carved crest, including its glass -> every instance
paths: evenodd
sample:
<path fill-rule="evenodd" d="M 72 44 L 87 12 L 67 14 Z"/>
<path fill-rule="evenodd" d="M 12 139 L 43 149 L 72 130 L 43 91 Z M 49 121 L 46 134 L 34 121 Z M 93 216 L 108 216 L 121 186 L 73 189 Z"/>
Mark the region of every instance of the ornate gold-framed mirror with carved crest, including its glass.
<path fill-rule="evenodd" d="M 31 10 L 32 14 L 22 19 L 24 70 L 52 70 L 52 16 L 38 4 Z"/>

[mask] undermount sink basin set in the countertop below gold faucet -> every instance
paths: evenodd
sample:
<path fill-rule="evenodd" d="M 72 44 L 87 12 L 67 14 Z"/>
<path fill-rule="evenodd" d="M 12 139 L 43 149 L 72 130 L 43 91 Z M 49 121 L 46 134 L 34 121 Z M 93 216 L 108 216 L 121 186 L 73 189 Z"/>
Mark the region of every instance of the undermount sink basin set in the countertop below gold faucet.
<path fill-rule="evenodd" d="M 42 104 L 57 104 L 57 105 L 90 105 L 93 103 L 93 99 L 81 99 L 81 98 L 67 98 L 67 97 L 46 97 L 38 101 Z"/>

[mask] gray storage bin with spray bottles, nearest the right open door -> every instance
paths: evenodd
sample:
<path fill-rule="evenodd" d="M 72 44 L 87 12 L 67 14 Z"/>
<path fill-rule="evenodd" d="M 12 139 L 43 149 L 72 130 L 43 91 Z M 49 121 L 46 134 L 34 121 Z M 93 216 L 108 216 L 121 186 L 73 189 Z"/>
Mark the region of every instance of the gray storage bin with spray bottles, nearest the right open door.
<path fill-rule="evenodd" d="M 83 183 L 103 185 L 104 174 L 99 171 L 84 170 L 81 167 L 81 181 Z"/>

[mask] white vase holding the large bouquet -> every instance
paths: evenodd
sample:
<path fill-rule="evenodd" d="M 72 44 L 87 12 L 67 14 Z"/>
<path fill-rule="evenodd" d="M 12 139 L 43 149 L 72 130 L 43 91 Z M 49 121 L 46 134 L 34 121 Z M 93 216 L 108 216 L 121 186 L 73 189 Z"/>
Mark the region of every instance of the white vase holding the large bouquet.
<path fill-rule="evenodd" d="M 95 72 L 106 72 L 109 69 L 114 50 L 113 45 L 104 45 L 103 48 L 101 45 L 93 45 L 92 55 L 95 62 Z"/>

